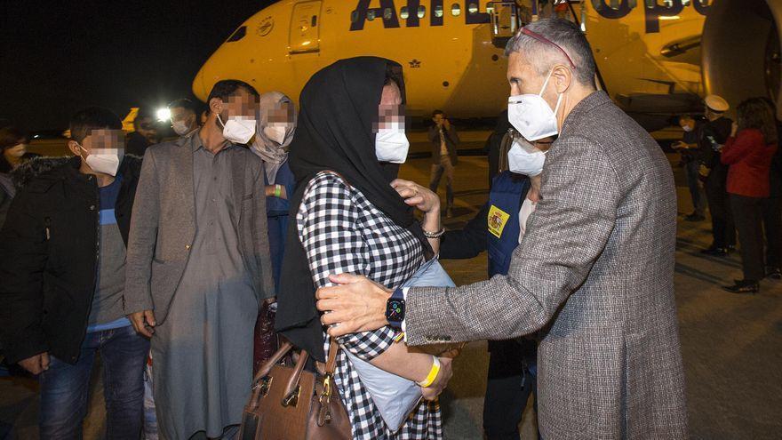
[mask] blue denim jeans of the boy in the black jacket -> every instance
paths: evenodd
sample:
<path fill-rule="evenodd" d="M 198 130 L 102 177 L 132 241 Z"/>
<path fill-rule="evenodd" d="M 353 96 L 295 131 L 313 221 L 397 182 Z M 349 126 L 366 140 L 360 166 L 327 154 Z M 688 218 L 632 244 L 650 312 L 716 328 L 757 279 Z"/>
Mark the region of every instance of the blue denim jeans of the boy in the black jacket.
<path fill-rule="evenodd" d="M 87 415 L 90 376 L 95 354 L 103 364 L 106 399 L 106 438 L 138 440 L 144 400 L 144 362 L 149 340 L 132 326 L 87 333 L 75 365 L 51 356 L 49 370 L 41 373 L 41 438 L 82 437 Z"/>

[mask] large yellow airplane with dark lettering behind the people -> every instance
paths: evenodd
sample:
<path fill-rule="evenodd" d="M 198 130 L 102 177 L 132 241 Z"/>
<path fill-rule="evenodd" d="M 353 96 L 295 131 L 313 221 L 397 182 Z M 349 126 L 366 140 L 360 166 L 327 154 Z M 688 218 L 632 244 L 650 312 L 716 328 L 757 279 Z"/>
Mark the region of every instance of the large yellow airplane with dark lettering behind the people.
<path fill-rule="evenodd" d="M 195 76 L 193 92 L 205 100 L 213 84 L 234 78 L 298 100 L 318 69 L 376 55 L 403 65 L 411 116 L 435 108 L 454 117 L 497 116 L 507 106 L 507 39 L 530 20 L 558 14 L 586 32 L 602 88 L 651 130 L 671 115 L 702 109 L 707 92 L 729 100 L 755 91 L 776 98 L 779 40 L 770 17 L 782 9 L 780 2 L 283 0 L 227 38 Z M 726 43 L 739 33 L 742 41 Z M 761 58 L 736 62 L 749 56 L 746 46 Z M 721 58 L 723 48 L 735 52 L 732 58 Z M 734 76 L 759 76 L 759 84 L 770 85 L 739 91 Z"/>

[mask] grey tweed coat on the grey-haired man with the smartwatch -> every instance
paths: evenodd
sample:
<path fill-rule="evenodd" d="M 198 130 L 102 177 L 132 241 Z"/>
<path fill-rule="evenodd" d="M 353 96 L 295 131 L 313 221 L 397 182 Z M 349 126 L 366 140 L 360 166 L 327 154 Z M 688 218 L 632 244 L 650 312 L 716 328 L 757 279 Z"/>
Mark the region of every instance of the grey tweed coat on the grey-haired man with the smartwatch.
<path fill-rule="evenodd" d="M 604 92 L 567 117 L 507 276 L 411 289 L 411 345 L 540 332 L 544 438 L 687 437 L 666 156 Z"/>

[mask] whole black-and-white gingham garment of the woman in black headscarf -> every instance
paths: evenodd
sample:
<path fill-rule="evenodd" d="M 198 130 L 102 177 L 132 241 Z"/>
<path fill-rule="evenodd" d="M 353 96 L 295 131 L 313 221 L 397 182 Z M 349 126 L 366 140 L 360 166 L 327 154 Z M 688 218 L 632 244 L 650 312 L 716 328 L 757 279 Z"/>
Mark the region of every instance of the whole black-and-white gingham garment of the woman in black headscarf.
<path fill-rule="evenodd" d="M 360 274 L 389 288 L 396 287 L 423 262 L 421 245 L 410 231 L 397 226 L 360 191 L 331 172 L 320 172 L 307 184 L 296 225 L 317 287 L 333 285 L 329 275 L 339 273 Z M 395 335 L 395 330 L 383 327 L 341 337 L 339 344 L 369 361 L 391 347 Z M 323 338 L 328 352 L 325 333 Z M 440 405 L 436 402 L 419 404 L 403 427 L 392 433 L 342 350 L 337 355 L 334 379 L 355 439 L 443 438 Z"/>

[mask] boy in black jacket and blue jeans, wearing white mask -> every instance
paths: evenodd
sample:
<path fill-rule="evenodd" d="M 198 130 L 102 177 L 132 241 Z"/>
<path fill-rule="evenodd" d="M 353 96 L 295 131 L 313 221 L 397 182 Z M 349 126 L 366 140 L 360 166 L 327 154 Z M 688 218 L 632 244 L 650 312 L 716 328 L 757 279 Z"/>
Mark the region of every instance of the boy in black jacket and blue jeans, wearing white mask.
<path fill-rule="evenodd" d="M 70 121 L 72 158 L 36 159 L 0 232 L 5 356 L 41 383 L 41 438 L 81 436 L 95 354 L 104 368 L 108 438 L 140 436 L 149 341 L 124 316 L 125 244 L 140 159 L 124 156 L 119 117 Z"/>

